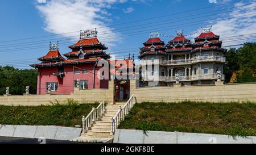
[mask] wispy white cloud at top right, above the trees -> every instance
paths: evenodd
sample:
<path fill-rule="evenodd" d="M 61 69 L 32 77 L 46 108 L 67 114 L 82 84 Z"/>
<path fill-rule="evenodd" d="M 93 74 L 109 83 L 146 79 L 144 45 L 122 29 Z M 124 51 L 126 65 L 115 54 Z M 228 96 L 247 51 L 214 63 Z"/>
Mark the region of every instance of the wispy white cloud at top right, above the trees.
<path fill-rule="evenodd" d="M 239 36 L 256 33 L 255 13 L 256 3 L 245 5 L 245 3 L 243 2 L 238 2 L 234 3 L 234 9 L 232 12 L 220 16 L 220 19 L 217 19 L 217 22 L 208 22 L 207 24 L 212 25 L 212 31 L 216 35 L 220 35 L 220 40 L 223 41 L 222 46 L 243 44 L 246 41 L 254 41 L 255 38 L 248 38 L 249 36 L 231 38 L 230 36 Z M 193 37 L 198 36 L 199 33 L 196 33 L 195 35 L 193 35 Z"/>

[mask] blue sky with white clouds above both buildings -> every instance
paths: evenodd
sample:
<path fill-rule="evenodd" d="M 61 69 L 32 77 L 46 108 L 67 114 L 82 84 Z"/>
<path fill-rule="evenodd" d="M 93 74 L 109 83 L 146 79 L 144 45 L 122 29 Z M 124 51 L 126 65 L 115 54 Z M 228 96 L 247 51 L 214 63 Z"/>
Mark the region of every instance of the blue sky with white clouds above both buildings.
<path fill-rule="evenodd" d="M 255 9 L 253 0 L 4 0 L 0 65 L 30 68 L 28 64 L 48 52 L 49 41 L 60 40 L 59 50 L 66 53 L 67 46 L 79 39 L 77 31 L 94 27 L 99 40 L 109 47 L 107 52 L 117 58 L 129 52 L 138 56 L 138 48 L 154 31 L 173 36 L 183 30 L 186 35 L 212 25 L 224 45 L 255 41 L 254 37 L 230 38 L 256 33 Z M 56 35 L 60 33 L 64 34 Z M 166 43 L 172 39 L 161 38 Z"/>

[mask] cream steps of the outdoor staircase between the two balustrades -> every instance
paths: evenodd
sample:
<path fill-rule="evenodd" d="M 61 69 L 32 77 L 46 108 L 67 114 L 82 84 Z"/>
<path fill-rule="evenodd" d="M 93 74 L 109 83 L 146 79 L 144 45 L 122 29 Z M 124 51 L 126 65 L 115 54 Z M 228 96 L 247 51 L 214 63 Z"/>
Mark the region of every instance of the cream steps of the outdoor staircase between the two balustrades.
<path fill-rule="evenodd" d="M 115 104 L 107 104 L 104 115 L 90 125 L 86 133 L 81 133 L 81 136 L 76 141 L 90 143 L 108 143 L 112 141 L 114 135 L 111 131 L 112 118 L 117 114 L 119 106 L 123 107 L 126 102 L 116 102 Z"/>

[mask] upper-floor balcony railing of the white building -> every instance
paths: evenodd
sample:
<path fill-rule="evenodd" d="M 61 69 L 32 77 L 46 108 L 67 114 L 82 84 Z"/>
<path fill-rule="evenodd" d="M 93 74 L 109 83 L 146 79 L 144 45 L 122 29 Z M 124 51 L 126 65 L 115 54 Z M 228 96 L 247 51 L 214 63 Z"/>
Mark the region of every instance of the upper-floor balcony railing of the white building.
<path fill-rule="evenodd" d="M 226 58 L 221 56 L 198 56 L 186 60 L 159 60 L 160 65 L 188 65 L 197 62 L 226 62 Z"/>

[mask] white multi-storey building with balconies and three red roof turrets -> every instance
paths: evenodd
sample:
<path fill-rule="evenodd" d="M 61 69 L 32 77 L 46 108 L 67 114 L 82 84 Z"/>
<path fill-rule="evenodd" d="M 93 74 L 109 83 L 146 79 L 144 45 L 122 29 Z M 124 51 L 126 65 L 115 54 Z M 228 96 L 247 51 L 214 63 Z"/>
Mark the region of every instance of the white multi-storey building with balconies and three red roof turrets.
<path fill-rule="evenodd" d="M 226 49 L 221 48 L 219 38 L 209 28 L 192 43 L 177 31 L 174 39 L 164 44 L 159 33 L 151 33 L 139 56 L 141 86 L 172 86 L 176 77 L 181 85 L 214 84 L 218 75 L 224 81 Z"/>

